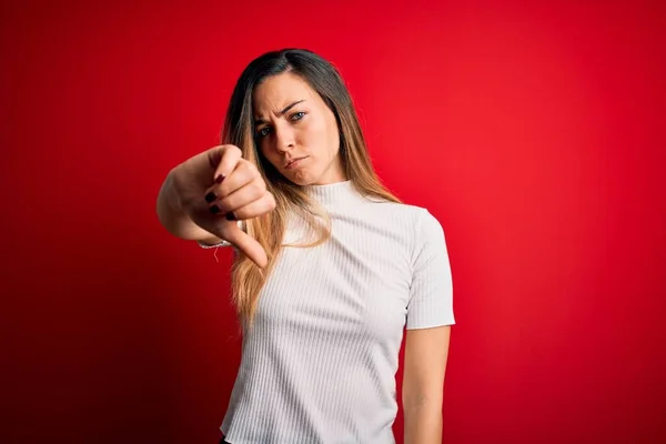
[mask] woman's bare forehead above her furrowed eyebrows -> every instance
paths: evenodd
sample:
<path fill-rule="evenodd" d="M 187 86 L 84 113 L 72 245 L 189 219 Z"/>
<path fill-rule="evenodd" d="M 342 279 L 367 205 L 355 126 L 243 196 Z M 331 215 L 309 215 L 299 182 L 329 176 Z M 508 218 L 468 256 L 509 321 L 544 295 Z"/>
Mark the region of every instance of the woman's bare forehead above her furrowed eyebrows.
<path fill-rule="evenodd" d="M 266 78 L 254 88 L 252 105 L 256 112 L 278 111 L 297 100 L 317 98 L 319 94 L 301 77 L 291 72 Z"/>

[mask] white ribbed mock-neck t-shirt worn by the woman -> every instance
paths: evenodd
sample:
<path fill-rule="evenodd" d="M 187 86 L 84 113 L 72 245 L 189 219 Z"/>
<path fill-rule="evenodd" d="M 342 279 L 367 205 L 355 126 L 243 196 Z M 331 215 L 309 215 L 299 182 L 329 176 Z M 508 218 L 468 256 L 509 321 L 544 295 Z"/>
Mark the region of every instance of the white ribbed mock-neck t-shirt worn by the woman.
<path fill-rule="evenodd" d="M 220 430 L 232 444 L 393 444 L 404 329 L 455 323 L 444 231 L 427 210 L 364 198 L 351 181 L 306 189 L 331 239 L 283 248 Z M 306 236 L 291 218 L 283 243 Z"/>

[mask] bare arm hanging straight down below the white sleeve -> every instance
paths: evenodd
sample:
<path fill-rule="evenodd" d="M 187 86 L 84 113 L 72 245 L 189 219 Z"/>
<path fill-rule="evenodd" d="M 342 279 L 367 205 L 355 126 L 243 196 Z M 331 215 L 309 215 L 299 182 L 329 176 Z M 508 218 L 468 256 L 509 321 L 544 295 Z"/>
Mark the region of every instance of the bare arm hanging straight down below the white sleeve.
<path fill-rule="evenodd" d="M 407 330 L 402 387 L 405 444 L 442 443 L 450 336 L 450 325 Z"/>

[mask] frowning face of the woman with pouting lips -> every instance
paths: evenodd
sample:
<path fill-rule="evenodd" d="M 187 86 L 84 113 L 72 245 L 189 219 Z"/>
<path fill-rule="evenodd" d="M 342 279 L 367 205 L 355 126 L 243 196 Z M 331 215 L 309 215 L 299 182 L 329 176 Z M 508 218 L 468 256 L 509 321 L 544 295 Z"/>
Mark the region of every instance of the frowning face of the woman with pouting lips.
<path fill-rule="evenodd" d="M 256 145 L 282 175 L 297 185 L 346 180 L 335 115 L 305 80 L 269 77 L 252 99 Z"/>

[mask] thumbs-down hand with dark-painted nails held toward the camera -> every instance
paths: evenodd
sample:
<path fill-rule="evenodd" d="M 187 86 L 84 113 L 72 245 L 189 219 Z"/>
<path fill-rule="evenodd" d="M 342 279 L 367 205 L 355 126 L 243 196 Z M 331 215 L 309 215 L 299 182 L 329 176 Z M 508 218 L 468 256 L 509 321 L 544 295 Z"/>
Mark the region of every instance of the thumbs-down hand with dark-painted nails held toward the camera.
<path fill-rule="evenodd" d="M 242 251 L 256 265 L 268 263 L 256 240 L 236 220 L 256 218 L 275 208 L 275 199 L 256 167 L 234 145 L 220 145 L 190 158 L 173 170 L 173 186 L 183 212 L 209 233 Z"/>

